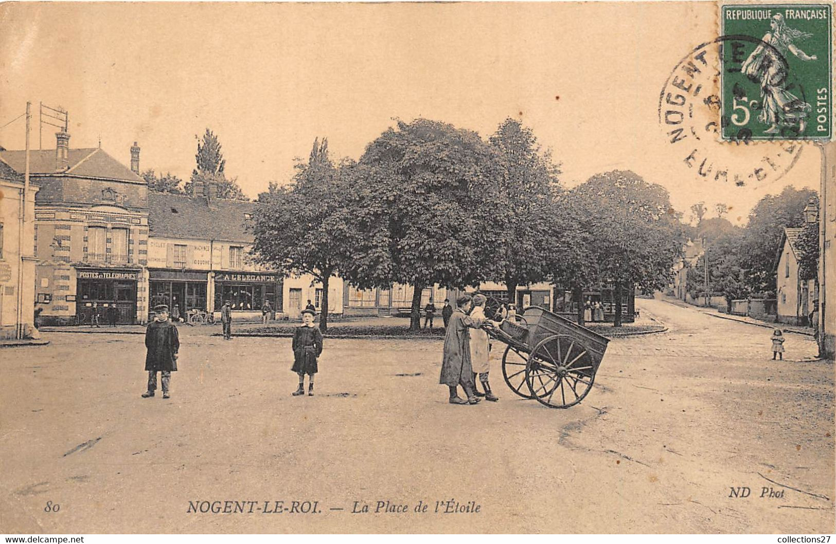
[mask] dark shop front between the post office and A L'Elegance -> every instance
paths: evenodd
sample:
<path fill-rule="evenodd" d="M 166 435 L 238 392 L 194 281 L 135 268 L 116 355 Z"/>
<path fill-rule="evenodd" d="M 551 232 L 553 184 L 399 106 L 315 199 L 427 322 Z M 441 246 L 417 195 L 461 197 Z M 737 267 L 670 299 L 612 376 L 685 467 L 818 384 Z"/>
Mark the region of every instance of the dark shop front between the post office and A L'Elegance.
<path fill-rule="evenodd" d="M 208 310 L 206 292 L 208 274 L 187 270 L 149 269 L 149 310 L 167 305 L 172 316 L 186 319 L 189 310 Z"/>

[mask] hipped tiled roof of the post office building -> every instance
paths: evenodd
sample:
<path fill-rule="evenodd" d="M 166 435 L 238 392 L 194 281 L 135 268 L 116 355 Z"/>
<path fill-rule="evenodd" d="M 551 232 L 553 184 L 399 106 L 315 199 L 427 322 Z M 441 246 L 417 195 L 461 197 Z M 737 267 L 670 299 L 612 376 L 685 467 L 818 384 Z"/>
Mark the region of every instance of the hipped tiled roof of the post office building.
<path fill-rule="evenodd" d="M 0 159 L 13 169 L 23 172 L 26 169 L 25 151 L 0 151 Z M 124 179 L 143 181 L 133 170 L 105 153 L 103 149 L 70 149 L 68 154 L 69 169 L 65 174 L 76 174 L 94 178 Z M 32 174 L 54 174 L 55 149 L 32 149 L 29 151 L 29 172 Z"/>

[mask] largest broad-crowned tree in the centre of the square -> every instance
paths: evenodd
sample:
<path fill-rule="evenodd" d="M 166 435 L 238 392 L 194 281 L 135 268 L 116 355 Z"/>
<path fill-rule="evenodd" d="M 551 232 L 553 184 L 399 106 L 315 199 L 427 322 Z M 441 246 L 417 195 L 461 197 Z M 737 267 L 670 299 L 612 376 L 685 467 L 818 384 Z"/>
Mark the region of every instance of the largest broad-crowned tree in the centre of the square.
<path fill-rule="evenodd" d="M 475 285 L 487 277 L 497 230 L 493 182 L 502 175 L 497 152 L 477 133 L 419 118 L 398 121 L 369 144 L 359 169 L 370 179 L 367 209 L 380 212 L 380 223 L 365 225 L 372 234 L 357 266 L 347 270 L 349 280 L 412 285 L 410 329 L 418 329 L 425 287 Z"/>

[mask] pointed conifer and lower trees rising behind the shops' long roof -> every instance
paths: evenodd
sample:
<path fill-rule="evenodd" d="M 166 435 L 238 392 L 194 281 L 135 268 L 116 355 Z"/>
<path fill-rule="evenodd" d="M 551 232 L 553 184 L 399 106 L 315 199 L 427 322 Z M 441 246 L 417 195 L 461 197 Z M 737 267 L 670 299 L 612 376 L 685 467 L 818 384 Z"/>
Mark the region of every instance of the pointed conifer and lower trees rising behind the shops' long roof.
<path fill-rule="evenodd" d="M 238 185 L 237 178 L 227 179 L 224 171 L 227 160 L 223 158 L 221 144 L 215 133 L 206 128 L 202 139 L 197 139 L 197 153 L 195 154 L 196 168 L 191 171 L 191 178 L 186 183 L 176 175 L 166 172 L 157 174 L 154 169 L 146 169 L 140 174 L 148 188 L 157 193 L 191 194 L 192 187 L 200 183 L 201 187 L 208 184 L 217 185 L 217 196 L 222 199 L 248 200 Z"/>

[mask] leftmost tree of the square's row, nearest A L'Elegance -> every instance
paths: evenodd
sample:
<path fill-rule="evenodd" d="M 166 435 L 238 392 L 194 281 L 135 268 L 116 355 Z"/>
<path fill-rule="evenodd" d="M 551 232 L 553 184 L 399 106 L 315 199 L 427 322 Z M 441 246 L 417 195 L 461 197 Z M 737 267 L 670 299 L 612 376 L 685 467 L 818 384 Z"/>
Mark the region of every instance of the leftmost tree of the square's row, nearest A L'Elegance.
<path fill-rule="evenodd" d="M 257 262 L 288 275 L 313 275 L 323 286 L 319 329 L 328 330 L 329 283 L 352 248 L 349 184 L 329 159 L 326 140 L 314 143 L 307 163 L 296 166 L 293 183 L 271 184 L 252 216 Z"/>

